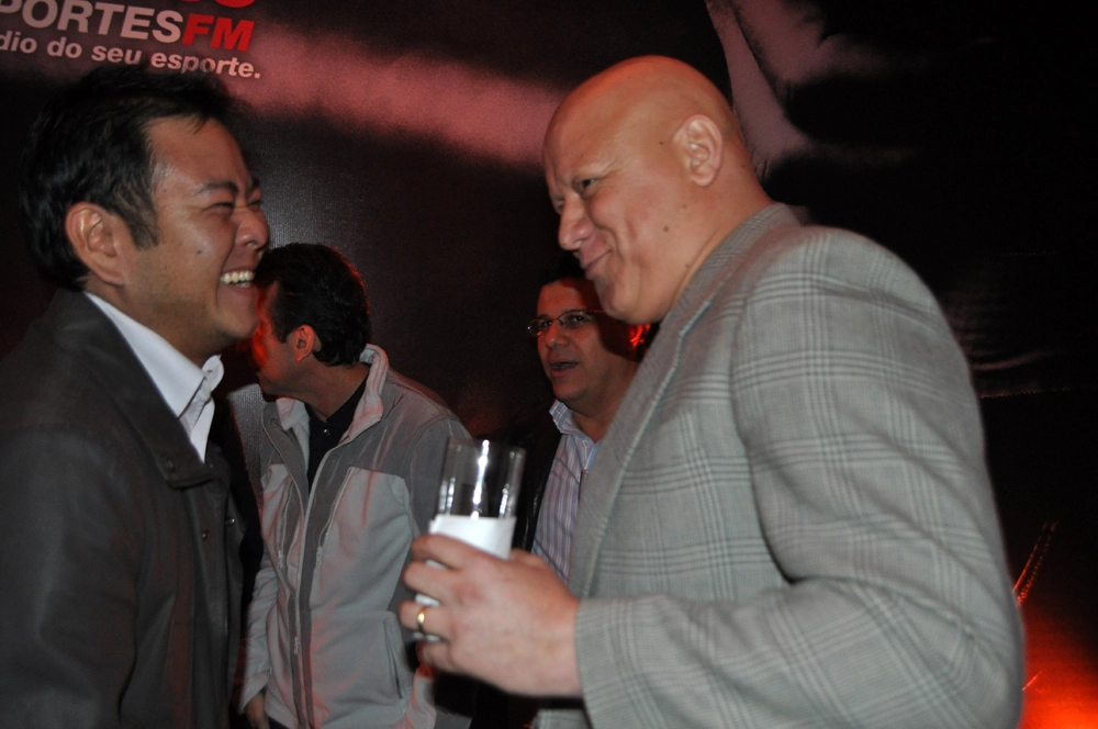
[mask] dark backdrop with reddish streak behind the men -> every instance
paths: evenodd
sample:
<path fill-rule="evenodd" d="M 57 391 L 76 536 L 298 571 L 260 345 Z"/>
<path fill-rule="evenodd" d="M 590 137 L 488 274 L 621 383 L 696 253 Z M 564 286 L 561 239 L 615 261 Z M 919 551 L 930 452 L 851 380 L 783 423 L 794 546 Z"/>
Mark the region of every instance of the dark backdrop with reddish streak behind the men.
<path fill-rule="evenodd" d="M 11 7 L 13 0 L 5 0 Z M 2 4 L 2 3 L 0 3 Z M 58 2 L 58 4 L 63 4 Z M 928 281 L 982 396 L 1028 632 L 1026 727 L 1098 726 L 1096 273 L 1088 18 L 990 0 L 154 0 L 255 22 L 249 47 L 35 29 L 0 51 L 0 355 L 52 291 L 15 217 L 38 108 L 93 45 L 237 57 L 242 133 L 272 244 L 325 242 L 361 270 L 374 339 L 473 433 L 544 401 L 523 324 L 556 253 L 540 137 L 563 94 L 629 56 L 694 64 L 731 92 L 771 195 L 865 233 Z M 44 9 L 36 11 L 42 19 Z M 98 18 L 98 15 L 97 15 Z M 32 15 L 32 20 L 34 16 Z M 80 58 L 52 58 L 66 36 Z M 226 390 L 254 456 L 258 389 Z"/>

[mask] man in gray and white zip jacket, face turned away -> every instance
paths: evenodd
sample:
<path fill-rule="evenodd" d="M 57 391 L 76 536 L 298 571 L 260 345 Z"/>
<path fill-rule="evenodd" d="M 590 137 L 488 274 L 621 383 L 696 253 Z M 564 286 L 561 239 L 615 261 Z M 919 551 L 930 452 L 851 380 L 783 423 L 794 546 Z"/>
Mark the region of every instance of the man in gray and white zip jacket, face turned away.
<path fill-rule="evenodd" d="M 414 671 L 395 606 L 408 547 L 435 512 L 446 441 L 438 396 L 368 344 L 366 289 L 327 246 L 277 248 L 253 357 L 264 392 L 262 532 L 240 696 L 258 727 L 455 727 Z"/>

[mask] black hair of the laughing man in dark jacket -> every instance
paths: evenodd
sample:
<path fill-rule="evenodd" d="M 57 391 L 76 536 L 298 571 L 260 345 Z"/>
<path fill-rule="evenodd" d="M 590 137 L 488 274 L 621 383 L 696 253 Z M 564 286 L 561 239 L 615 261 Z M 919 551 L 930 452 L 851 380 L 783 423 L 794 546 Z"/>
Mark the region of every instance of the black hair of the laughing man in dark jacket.
<path fill-rule="evenodd" d="M 149 125 L 167 117 L 197 126 L 225 122 L 231 109 L 216 77 L 144 66 L 97 68 L 55 97 L 31 127 L 19 186 L 23 235 L 38 273 L 66 289 L 83 288 L 88 268 L 65 233 L 65 216 L 79 202 L 120 216 L 138 248 L 155 245 Z"/>

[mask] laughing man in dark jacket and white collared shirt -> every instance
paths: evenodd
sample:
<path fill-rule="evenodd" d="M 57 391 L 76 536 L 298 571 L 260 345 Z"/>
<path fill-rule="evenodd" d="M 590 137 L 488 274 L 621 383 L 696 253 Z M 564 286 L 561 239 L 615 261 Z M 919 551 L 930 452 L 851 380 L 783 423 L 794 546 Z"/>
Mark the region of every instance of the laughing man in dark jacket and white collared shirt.
<path fill-rule="evenodd" d="M 99 69 L 20 204 L 60 289 L 0 365 L 0 726 L 227 727 L 240 525 L 208 446 L 256 326 L 261 193 L 208 78 Z"/>

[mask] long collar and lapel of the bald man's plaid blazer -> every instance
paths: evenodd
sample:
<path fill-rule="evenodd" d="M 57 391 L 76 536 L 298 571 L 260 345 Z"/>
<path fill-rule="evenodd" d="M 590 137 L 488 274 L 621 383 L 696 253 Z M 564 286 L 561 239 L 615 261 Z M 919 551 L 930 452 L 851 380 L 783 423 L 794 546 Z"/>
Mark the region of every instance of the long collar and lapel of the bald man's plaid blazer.
<path fill-rule="evenodd" d="M 771 231 L 797 225 L 793 212 L 781 204 L 770 205 L 741 223 L 709 254 L 663 318 L 660 334 L 637 369 L 587 475 L 572 542 L 569 587 L 573 594 L 584 597 L 591 590 L 598 546 L 621 489 L 625 468 L 675 375 L 686 334 L 725 282 L 743 269 L 754 244 Z"/>

